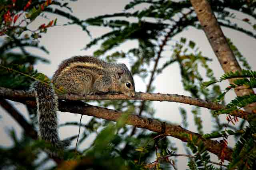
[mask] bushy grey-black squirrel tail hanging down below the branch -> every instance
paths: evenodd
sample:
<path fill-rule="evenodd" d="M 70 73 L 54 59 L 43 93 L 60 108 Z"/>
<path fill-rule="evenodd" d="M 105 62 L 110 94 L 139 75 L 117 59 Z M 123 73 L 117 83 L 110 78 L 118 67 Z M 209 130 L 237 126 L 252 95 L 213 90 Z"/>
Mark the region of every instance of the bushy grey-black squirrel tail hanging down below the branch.
<path fill-rule="evenodd" d="M 69 141 L 60 141 L 58 136 L 58 97 L 52 85 L 35 82 L 32 90 L 36 93 L 39 137 L 50 142 L 56 149 L 67 147 Z"/>

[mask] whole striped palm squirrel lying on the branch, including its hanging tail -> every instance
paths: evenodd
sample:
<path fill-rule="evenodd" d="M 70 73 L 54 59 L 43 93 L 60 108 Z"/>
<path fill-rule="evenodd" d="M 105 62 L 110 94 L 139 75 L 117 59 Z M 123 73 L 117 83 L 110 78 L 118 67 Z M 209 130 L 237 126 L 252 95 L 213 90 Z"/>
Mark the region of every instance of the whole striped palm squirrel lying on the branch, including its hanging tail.
<path fill-rule="evenodd" d="M 79 95 L 95 93 L 122 93 L 134 96 L 134 81 L 125 64 L 106 63 L 88 56 L 75 56 L 62 61 L 54 73 L 52 83 L 56 88 Z M 58 136 L 58 97 L 51 86 L 41 82 L 32 84 L 36 93 L 39 137 L 54 147 L 67 147 L 69 141 L 60 141 Z M 52 153 L 54 154 L 54 153 Z"/>

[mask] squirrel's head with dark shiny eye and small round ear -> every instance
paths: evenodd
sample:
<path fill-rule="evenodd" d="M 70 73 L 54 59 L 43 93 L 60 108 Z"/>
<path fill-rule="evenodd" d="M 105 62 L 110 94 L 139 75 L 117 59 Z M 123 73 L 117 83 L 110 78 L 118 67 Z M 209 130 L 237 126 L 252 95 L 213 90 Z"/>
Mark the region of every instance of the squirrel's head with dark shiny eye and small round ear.
<path fill-rule="evenodd" d="M 126 96 L 135 95 L 134 80 L 132 74 L 125 64 L 120 64 L 121 67 L 116 70 L 116 79 L 118 80 L 119 92 Z"/>

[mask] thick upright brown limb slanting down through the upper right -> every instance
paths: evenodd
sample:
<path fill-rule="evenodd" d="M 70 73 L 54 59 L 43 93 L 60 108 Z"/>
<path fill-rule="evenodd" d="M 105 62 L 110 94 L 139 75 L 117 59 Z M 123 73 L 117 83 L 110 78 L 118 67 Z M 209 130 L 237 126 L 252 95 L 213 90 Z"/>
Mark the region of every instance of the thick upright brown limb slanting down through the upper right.
<path fill-rule="evenodd" d="M 241 67 L 230 49 L 207 0 L 190 0 L 190 2 L 196 11 L 198 20 L 200 21 L 208 41 L 210 42 L 224 72 L 240 72 Z M 233 82 L 234 79 L 230 79 L 230 83 Z M 237 96 L 254 93 L 252 89 L 235 89 L 235 92 Z M 244 109 L 248 112 L 252 112 L 252 110 L 256 109 L 256 103 L 250 104 L 244 107 Z"/>

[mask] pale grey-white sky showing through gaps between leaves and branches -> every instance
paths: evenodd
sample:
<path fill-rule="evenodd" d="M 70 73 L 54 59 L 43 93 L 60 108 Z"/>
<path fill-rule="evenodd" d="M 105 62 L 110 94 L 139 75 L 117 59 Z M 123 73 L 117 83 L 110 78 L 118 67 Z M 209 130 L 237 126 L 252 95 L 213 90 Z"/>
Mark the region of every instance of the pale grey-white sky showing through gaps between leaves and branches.
<path fill-rule="evenodd" d="M 124 9 L 124 6 L 130 2 L 130 0 L 78 0 L 76 2 L 70 2 L 70 7 L 73 10 L 73 15 L 77 16 L 80 19 L 86 19 L 98 15 L 104 15 L 104 14 L 113 14 L 115 12 L 122 12 Z M 145 6 L 140 5 L 136 7 L 134 10 L 143 9 Z M 241 13 L 237 14 L 238 18 L 248 18 L 247 16 L 244 16 Z M 48 18 L 50 20 L 53 20 L 56 18 L 54 15 L 48 15 Z M 249 18 L 250 19 L 250 18 Z M 31 25 L 31 28 L 37 28 L 38 25 L 41 25 L 42 23 L 48 23 L 50 20 L 44 19 L 44 18 L 38 18 L 34 23 Z M 58 25 L 61 25 L 62 23 L 66 23 L 67 20 L 64 18 L 58 17 Z M 251 20 L 251 22 L 255 23 L 255 20 Z M 243 27 L 249 28 L 249 25 L 244 24 Z M 91 32 L 92 38 L 96 38 L 108 31 L 110 29 L 107 28 L 101 28 L 101 27 L 88 27 L 89 31 Z M 248 37 L 247 35 L 244 35 L 243 33 L 240 33 L 238 31 L 233 31 L 231 29 L 227 29 L 222 27 L 222 30 L 224 32 L 224 35 L 226 37 L 229 37 L 232 39 L 232 42 L 238 47 L 240 52 L 246 57 L 248 60 L 248 63 L 252 66 L 252 70 L 256 70 L 256 57 L 254 52 L 254 47 L 256 47 L 256 41 L 255 39 L 252 39 L 251 37 Z M 254 31 L 256 33 L 256 31 Z M 214 71 L 214 75 L 218 78 L 220 77 L 224 72 L 222 68 L 220 67 L 220 64 L 218 63 L 217 58 L 215 57 L 210 44 L 202 30 L 195 29 L 193 27 L 188 27 L 182 33 L 175 36 L 173 38 L 173 41 L 179 40 L 180 37 L 186 37 L 188 40 L 193 40 L 196 42 L 198 47 L 200 48 L 200 51 L 202 51 L 202 55 L 209 57 L 213 59 L 213 61 L 210 63 L 210 67 Z M 87 43 L 92 40 L 86 32 L 82 31 L 80 27 L 76 25 L 69 25 L 69 26 L 56 26 L 48 29 L 48 32 L 46 34 L 42 34 L 42 38 L 40 39 L 40 43 L 44 45 L 48 51 L 50 51 L 50 54 L 46 54 L 42 51 L 38 51 L 36 49 L 29 49 L 29 51 L 36 55 L 41 55 L 45 57 L 46 59 L 49 59 L 51 61 L 50 64 L 45 63 L 37 63 L 36 69 L 38 69 L 39 72 L 42 72 L 46 74 L 49 77 L 52 77 L 54 74 L 54 71 L 57 69 L 58 64 L 64 60 L 68 59 L 69 57 L 72 57 L 74 55 L 92 55 L 93 51 L 96 50 L 99 45 L 96 45 L 95 47 L 92 47 L 91 49 L 84 51 L 81 50 L 85 47 Z M 131 47 L 136 47 L 138 44 L 136 41 L 128 41 L 124 44 L 122 44 L 120 47 L 117 47 L 114 49 L 116 50 L 122 50 L 122 51 L 128 51 Z M 160 59 L 159 66 L 161 66 L 163 63 L 166 62 L 168 59 L 167 56 L 170 56 L 170 51 L 168 51 L 170 48 L 166 48 L 166 51 L 163 53 L 165 57 Z M 113 51 L 111 51 L 113 52 Z M 128 60 L 120 60 L 118 62 L 125 63 L 128 68 L 130 68 L 130 63 Z M 154 80 L 153 85 L 156 87 L 154 92 L 155 93 L 169 93 L 169 94 L 179 94 L 179 95 L 185 95 L 189 96 L 190 94 L 183 90 L 182 82 L 180 78 L 179 73 L 179 67 L 178 64 L 172 64 L 171 66 L 164 69 L 162 74 L 156 77 Z M 135 82 L 135 89 L 136 92 L 145 92 L 146 91 L 146 84 L 148 84 L 148 79 L 146 81 L 143 81 L 138 76 L 134 76 L 134 82 Z M 224 81 L 220 83 L 222 86 L 222 89 L 224 89 L 226 86 L 228 86 L 228 82 Z M 227 101 L 230 101 L 232 98 L 235 97 L 234 92 L 229 92 L 227 96 Z M 24 117 L 29 121 L 28 113 L 25 109 L 25 107 L 22 104 L 12 102 L 16 108 L 19 109 L 20 112 L 24 113 Z M 161 119 L 162 121 L 167 121 L 174 123 L 176 125 L 181 125 L 182 117 L 179 113 L 179 107 L 184 107 L 185 109 L 188 109 L 188 122 L 189 127 L 188 130 L 196 132 L 196 126 L 194 125 L 193 120 L 193 114 L 189 111 L 192 109 L 192 106 L 186 105 L 186 104 L 180 104 L 176 102 L 153 102 L 154 108 L 156 109 L 156 114 L 154 115 L 155 118 Z M 0 145 L 2 146 L 10 146 L 12 143 L 10 142 L 10 138 L 8 137 L 7 133 L 8 130 L 14 128 L 17 132 L 17 134 L 20 134 L 22 129 L 19 127 L 19 125 L 8 115 L 4 112 L 2 108 L 0 108 L 0 113 L 2 118 L 0 119 Z M 210 126 L 213 120 L 212 117 L 207 109 L 202 108 L 201 113 L 202 119 L 203 119 L 203 126 L 204 126 L 204 133 L 209 133 L 213 128 Z M 223 118 L 223 117 L 222 117 Z M 87 123 L 90 121 L 91 117 L 89 116 L 83 116 L 82 122 Z M 75 115 L 72 113 L 59 113 L 58 114 L 58 121 L 59 123 L 65 123 L 67 121 L 79 121 L 80 115 Z M 73 136 L 78 133 L 77 127 L 61 127 L 59 129 L 60 138 L 64 139 L 66 137 Z M 89 144 L 92 142 L 92 139 L 94 139 L 95 134 L 92 134 L 87 141 L 81 145 L 81 147 L 89 146 Z M 183 150 L 182 142 L 180 142 L 177 139 L 174 139 L 172 137 L 169 137 L 169 139 L 172 142 L 176 142 L 176 146 L 179 148 L 178 153 L 182 154 L 185 153 Z M 232 145 L 232 143 L 231 143 Z M 75 143 L 72 143 L 72 147 L 75 146 Z M 186 158 L 179 157 L 178 159 L 178 169 L 185 169 L 186 168 Z M 216 156 L 214 157 L 216 160 Z"/>

